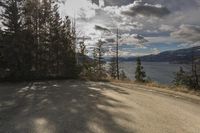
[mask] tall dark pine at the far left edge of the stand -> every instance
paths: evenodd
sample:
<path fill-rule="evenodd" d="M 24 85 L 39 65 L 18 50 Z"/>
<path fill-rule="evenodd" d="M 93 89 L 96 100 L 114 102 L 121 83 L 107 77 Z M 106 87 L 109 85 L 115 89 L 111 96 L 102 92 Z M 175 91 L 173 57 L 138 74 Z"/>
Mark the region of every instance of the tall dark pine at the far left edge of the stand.
<path fill-rule="evenodd" d="M 3 8 L 2 24 L 5 27 L 4 57 L 7 70 L 12 78 L 21 77 L 23 69 L 23 39 L 22 39 L 22 0 L 5 0 L 1 3 Z"/>

